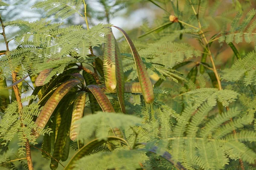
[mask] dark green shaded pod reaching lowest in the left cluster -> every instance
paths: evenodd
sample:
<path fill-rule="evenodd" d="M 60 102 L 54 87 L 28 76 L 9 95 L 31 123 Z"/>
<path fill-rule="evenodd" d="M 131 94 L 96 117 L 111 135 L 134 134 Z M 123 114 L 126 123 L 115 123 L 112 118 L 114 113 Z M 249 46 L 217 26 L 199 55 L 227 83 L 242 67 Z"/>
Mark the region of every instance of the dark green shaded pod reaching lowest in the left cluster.
<path fill-rule="evenodd" d="M 69 132 L 70 132 L 70 123 L 72 116 L 73 104 L 69 106 L 69 108 L 64 112 L 63 118 L 61 119 L 61 124 L 58 128 L 57 138 L 54 144 L 53 157 L 59 161 L 66 161 L 69 154 Z M 68 147 L 67 147 L 68 146 Z M 58 162 L 55 159 L 51 159 L 50 168 L 52 170 L 57 169 Z"/>

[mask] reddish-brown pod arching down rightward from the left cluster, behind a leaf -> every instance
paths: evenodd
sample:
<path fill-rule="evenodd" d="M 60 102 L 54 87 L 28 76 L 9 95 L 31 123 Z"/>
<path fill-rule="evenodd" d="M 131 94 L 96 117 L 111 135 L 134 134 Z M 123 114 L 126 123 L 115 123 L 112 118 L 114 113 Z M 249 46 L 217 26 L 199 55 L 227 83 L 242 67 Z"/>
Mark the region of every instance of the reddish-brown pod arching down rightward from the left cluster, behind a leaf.
<path fill-rule="evenodd" d="M 113 106 L 111 105 L 108 97 L 103 93 L 103 91 L 96 85 L 87 85 L 87 88 L 95 96 L 97 102 L 99 103 L 102 111 L 104 112 L 115 112 Z"/>

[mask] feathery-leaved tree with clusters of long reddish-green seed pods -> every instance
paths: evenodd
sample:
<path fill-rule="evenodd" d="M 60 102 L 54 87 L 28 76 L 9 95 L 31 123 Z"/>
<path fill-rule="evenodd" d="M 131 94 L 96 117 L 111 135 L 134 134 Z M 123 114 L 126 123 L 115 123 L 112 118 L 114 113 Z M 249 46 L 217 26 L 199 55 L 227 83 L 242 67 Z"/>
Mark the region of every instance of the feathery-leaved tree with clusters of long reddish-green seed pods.
<path fill-rule="evenodd" d="M 100 2 L 109 21 L 110 2 Z M 166 15 L 154 28 L 139 30 L 136 47 L 118 26 L 89 28 L 84 0 L 44 0 L 32 8 L 61 19 L 77 13 L 86 28 L 0 16 L 6 45 L 0 53 L 3 169 L 17 169 L 13 162 L 26 159 L 21 164 L 32 170 L 39 160 L 31 148 L 50 160 L 52 170 L 255 169 L 256 54 L 240 55 L 233 42 L 254 40 L 256 11 L 250 9 L 241 20 L 250 2 L 234 1 L 220 16 L 215 14 L 224 3 L 220 0 L 209 10 L 207 0 L 171 0 L 172 14 L 163 8 L 165 0 L 149 3 Z M 8 4 L 0 1 L 0 6 Z M 230 20 L 232 13 L 236 16 Z M 206 34 L 206 17 L 221 19 L 223 28 L 212 37 Z M 17 48 L 10 51 L 5 28 L 12 26 L 20 31 L 13 39 Z M 116 40 L 112 28 L 125 41 Z M 180 42 L 189 36 L 201 51 Z M 237 58 L 223 71 L 211 46 L 217 40 Z M 177 71 L 188 65 L 187 74 Z M 152 74 L 160 78 L 154 88 Z M 32 94 L 21 98 L 29 90 Z M 15 136 L 18 153 L 26 157 L 15 159 L 10 150 Z"/>

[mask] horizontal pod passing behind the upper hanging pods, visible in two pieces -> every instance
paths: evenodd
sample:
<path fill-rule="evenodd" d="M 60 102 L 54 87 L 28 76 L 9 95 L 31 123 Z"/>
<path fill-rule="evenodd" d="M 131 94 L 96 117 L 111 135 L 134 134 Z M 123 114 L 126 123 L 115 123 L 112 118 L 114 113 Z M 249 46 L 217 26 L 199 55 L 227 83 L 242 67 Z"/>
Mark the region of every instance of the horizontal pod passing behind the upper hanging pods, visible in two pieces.
<path fill-rule="evenodd" d="M 116 91 L 109 91 L 105 85 L 97 85 L 102 91 L 106 93 L 115 93 Z M 139 82 L 125 82 L 125 93 L 142 93 L 142 89 Z"/>

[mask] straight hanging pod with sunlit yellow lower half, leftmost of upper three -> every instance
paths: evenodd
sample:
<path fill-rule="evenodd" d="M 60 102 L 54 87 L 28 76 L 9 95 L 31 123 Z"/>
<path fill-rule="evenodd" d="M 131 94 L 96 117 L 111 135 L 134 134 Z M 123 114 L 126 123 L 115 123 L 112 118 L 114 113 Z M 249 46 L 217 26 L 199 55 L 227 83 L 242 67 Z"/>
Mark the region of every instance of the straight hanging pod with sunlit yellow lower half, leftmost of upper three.
<path fill-rule="evenodd" d="M 111 29 L 111 28 L 110 28 Z M 115 63 L 115 37 L 112 29 L 109 34 L 105 35 L 106 43 L 104 43 L 103 69 L 105 76 L 105 84 L 108 90 L 116 89 L 116 63 Z"/>

